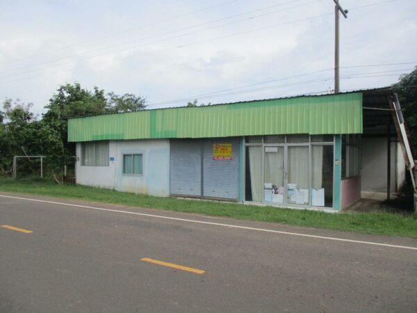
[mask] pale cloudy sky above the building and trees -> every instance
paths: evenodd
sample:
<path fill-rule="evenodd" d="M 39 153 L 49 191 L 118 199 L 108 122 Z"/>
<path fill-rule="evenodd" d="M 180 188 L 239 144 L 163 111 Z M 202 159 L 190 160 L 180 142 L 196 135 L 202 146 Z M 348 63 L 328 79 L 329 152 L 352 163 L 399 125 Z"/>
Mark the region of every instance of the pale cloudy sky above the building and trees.
<path fill-rule="evenodd" d="M 341 91 L 389 86 L 417 66 L 417 1 L 340 0 Z M 0 97 L 37 114 L 79 82 L 148 109 L 334 89 L 334 1 L 0 3 Z"/>

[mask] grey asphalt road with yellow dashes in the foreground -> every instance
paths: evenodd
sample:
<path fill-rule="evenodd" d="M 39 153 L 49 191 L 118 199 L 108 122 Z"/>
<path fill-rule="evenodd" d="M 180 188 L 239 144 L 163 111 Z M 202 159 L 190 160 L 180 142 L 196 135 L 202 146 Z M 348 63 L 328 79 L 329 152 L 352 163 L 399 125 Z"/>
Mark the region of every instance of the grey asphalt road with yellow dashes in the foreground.
<path fill-rule="evenodd" d="M 0 312 L 417 312 L 415 239 L 2 195 Z"/>

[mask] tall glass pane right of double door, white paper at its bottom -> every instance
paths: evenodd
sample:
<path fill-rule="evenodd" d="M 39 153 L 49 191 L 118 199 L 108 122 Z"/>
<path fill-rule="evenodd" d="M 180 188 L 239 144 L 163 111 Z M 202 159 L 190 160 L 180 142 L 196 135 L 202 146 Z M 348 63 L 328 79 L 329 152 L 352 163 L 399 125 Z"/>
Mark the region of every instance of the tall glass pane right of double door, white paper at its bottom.
<path fill-rule="evenodd" d="M 333 146 L 311 146 L 311 205 L 333 207 Z"/>

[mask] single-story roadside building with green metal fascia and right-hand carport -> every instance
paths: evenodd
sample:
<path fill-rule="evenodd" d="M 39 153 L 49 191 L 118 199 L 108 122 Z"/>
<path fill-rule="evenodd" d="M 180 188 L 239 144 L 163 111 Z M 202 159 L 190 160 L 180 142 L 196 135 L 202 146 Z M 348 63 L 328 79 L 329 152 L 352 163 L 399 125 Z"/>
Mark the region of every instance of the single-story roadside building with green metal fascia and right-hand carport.
<path fill-rule="evenodd" d="M 397 191 L 414 166 L 395 99 L 381 88 L 95 115 L 70 119 L 68 141 L 77 184 L 340 210 L 361 190 Z"/>

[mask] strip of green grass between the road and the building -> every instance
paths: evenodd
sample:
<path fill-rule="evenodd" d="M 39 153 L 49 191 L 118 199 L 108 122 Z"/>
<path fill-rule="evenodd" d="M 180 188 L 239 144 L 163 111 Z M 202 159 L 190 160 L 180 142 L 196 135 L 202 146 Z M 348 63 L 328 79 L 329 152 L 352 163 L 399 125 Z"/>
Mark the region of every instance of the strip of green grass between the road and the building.
<path fill-rule="evenodd" d="M 225 216 L 240 220 L 317 227 L 327 230 L 417 238 L 417 214 L 411 214 L 410 216 L 392 213 L 328 214 L 320 211 L 135 195 L 87 186 L 58 185 L 49 179 L 16 180 L 0 178 L 0 191 L 123 204 L 130 207 L 166 209 L 208 216 Z"/>

